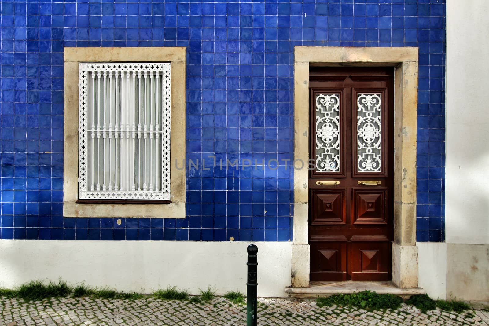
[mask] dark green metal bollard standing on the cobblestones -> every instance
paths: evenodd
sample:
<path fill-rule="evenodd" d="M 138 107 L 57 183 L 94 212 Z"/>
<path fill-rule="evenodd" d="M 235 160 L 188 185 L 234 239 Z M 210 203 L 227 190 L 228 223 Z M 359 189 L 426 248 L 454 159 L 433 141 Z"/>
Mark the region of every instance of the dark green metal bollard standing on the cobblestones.
<path fill-rule="evenodd" d="M 258 253 L 258 247 L 254 244 L 250 244 L 246 249 L 248 251 L 248 280 L 246 282 L 246 326 L 256 326 L 257 316 L 257 289 L 258 283 L 256 283 L 256 254 Z"/>

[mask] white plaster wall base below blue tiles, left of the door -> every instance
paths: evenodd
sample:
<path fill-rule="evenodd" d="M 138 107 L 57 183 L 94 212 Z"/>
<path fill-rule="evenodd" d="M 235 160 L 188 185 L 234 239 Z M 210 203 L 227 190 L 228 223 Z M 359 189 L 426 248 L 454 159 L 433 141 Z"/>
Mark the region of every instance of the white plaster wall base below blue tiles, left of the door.
<path fill-rule="evenodd" d="M 246 292 L 249 242 L 0 240 L 0 287 L 62 278 L 70 284 L 151 293 L 167 285 L 192 294 L 208 286 Z M 291 242 L 258 246 L 258 295 L 285 297 Z"/>

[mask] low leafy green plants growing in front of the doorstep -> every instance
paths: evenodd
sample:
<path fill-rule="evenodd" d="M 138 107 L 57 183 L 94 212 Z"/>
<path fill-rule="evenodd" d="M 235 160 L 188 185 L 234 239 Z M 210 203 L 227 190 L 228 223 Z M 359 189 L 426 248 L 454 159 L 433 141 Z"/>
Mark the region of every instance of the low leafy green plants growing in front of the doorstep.
<path fill-rule="evenodd" d="M 335 294 L 330 297 L 319 297 L 318 307 L 324 306 L 356 306 L 365 310 L 397 309 L 402 299 L 394 294 L 378 294 L 374 291 L 362 291 L 351 294 Z"/>

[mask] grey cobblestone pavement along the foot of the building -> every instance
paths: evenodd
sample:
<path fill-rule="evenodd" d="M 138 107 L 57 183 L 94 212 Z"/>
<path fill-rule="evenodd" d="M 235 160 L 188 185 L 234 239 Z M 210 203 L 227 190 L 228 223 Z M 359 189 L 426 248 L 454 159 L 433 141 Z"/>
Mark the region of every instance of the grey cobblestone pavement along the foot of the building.
<path fill-rule="evenodd" d="M 209 304 L 140 300 L 53 298 L 24 302 L 0 298 L 0 325 L 245 325 L 245 305 L 216 298 Z M 259 299 L 258 325 L 489 325 L 489 312 L 462 314 L 439 309 L 422 314 L 402 304 L 399 310 L 319 308 L 312 301 Z"/>

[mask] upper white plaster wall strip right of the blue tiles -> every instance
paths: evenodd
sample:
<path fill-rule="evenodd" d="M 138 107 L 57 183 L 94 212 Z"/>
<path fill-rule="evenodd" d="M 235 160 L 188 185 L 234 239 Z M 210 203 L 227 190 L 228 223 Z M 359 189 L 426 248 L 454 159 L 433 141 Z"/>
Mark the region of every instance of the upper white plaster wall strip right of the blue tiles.
<path fill-rule="evenodd" d="M 446 241 L 489 243 L 489 1 L 447 1 Z"/>

